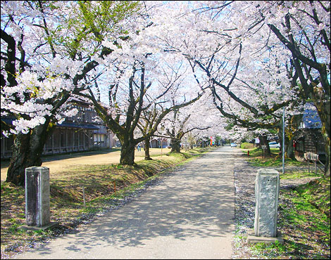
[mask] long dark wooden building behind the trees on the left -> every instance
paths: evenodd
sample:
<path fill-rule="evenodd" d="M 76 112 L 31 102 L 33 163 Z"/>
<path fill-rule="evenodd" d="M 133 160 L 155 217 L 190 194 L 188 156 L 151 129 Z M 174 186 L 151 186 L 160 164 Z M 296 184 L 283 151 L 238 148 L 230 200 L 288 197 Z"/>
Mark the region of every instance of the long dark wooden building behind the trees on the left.
<path fill-rule="evenodd" d="M 99 150 L 115 146 L 115 134 L 98 119 L 95 110 L 85 100 L 71 100 L 73 108 L 79 111 L 74 117 L 66 117 L 62 124 L 56 124 L 53 134 L 44 145 L 43 155 L 66 152 Z M 13 119 L 1 119 L 11 124 Z M 1 131 L 1 159 L 10 158 L 13 136 L 6 138 Z"/>

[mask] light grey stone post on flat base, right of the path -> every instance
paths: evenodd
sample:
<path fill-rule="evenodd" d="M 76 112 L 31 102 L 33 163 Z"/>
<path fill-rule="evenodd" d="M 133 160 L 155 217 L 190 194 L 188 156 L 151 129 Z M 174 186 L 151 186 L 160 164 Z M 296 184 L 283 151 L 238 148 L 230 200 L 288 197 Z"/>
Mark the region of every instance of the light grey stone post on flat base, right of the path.
<path fill-rule="evenodd" d="M 280 233 L 277 233 L 279 192 L 279 172 L 275 169 L 258 169 L 255 182 L 254 232 L 249 233 L 247 242 L 284 242 Z"/>

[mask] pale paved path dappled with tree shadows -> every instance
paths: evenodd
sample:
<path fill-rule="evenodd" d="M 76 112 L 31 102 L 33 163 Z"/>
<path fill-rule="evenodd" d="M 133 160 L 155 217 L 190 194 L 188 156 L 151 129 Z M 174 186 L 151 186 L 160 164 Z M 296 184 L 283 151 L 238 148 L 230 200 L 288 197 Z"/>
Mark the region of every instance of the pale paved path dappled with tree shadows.
<path fill-rule="evenodd" d="M 16 259 L 230 259 L 235 152 L 208 152 L 124 207 Z"/>

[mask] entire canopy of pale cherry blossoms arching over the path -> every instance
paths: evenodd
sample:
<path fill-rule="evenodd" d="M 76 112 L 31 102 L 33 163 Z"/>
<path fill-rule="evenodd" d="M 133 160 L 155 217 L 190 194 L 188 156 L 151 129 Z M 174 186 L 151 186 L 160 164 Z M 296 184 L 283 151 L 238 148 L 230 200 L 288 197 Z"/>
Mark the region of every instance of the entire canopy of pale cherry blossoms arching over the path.
<path fill-rule="evenodd" d="M 1 1 L 4 134 L 61 123 L 75 95 L 131 147 L 170 112 L 193 118 L 202 95 L 199 112 L 237 132 L 279 128 L 282 108 L 290 119 L 311 102 L 330 175 L 330 2 Z"/>

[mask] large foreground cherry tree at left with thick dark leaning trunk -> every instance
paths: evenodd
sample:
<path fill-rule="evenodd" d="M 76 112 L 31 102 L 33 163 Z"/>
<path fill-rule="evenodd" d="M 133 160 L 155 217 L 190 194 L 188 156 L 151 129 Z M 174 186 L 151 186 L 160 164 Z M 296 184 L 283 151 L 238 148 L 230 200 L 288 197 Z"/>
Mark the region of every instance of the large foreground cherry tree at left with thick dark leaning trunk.
<path fill-rule="evenodd" d="M 23 185 L 25 168 L 42 164 L 56 123 L 77 112 L 68 98 L 111 53 L 101 41 L 123 35 L 136 8 L 127 1 L 1 1 L 1 129 L 15 134 L 6 181 Z"/>

